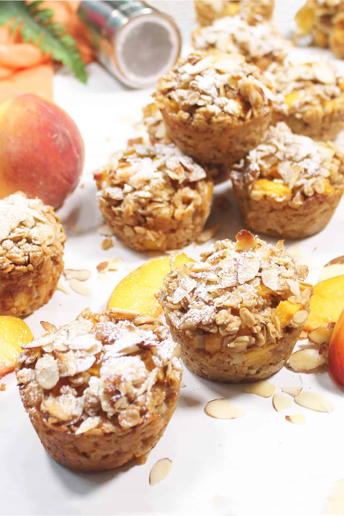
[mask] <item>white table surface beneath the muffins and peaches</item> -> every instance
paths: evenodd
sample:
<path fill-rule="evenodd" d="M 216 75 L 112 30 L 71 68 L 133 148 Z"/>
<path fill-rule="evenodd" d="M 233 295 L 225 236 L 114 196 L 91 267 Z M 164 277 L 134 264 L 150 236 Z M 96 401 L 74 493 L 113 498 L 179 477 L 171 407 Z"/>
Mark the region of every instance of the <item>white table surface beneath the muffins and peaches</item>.
<path fill-rule="evenodd" d="M 185 53 L 190 30 L 195 26 L 191 3 L 153 4 L 176 16 L 184 36 Z M 277 0 L 276 21 L 285 34 L 291 31 L 293 15 L 301 4 L 295 0 Z M 332 59 L 329 52 L 319 49 L 293 50 L 292 57 L 306 60 L 320 53 Z M 339 62 L 339 66 L 344 72 L 344 63 Z M 111 152 L 125 145 L 127 138 L 137 135 L 133 123 L 140 120 L 140 109 L 149 101 L 149 91 L 122 87 L 96 63 L 88 70 L 87 86 L 61 70 L 54 87 L 56 103 L 74 118 L 85 140 L 85 176 L 58 213 L 68 235 L 65 266 L 92 271 L 86 282 L 92 297 L 85 298 L 73 291 L 70 296 L 56 292 L 47 305 L 26 319 L 35 336 L 42 332 L 41 320 L 67 324 L 87 306 L 93 311 L 105 308 L 113 287 L 127 270 L 122 267 L 110 272 L 111 281 L 104 284 L 97 278 L 95 267 L 99 262 L 120 256 L 125 266 L 134 266 L 149 259 L 148 255 L 130 251 L 118 241 L 108 251 L 101 249 L 104 237 L 96 228 L 102 217 L 96 206 L 91 175 Z M 214 209 L 208 225 L 219 221 L 221 229 L 216 238 L 234 238 L 241 222 L 229 182 L 215 188 L 215 196 L 224 192 L 231 208 L 225 213 Z M 325 231 L 299 244 L 303 254 L 311 259 L 310 281 L 317 281 L 327 261 L 344 254 L 343 218 L 344 201 Z M 83 228 L 82 234 L 72 232 L 74 224 Z M 186 252 L 195 257 L 208 244 L 191 245 Z M 286 242 L 286 247 L 290 244 Z M 61 281 L 69 288 L 68 282 Z M 0 514 L 313 516 L 323 513 L 334 482 L 344 478 L 344 398 L 327 373 L 296 374 L 282 368 L 271 379 L 277 386 L 302 385 L 305 391 L 321 393 L 334 402 L 335 411 L 331 414 L 294 405 L 288 412 L 304 414 L 304 426 L 286 422 L 288 412 L 276 413 L 271 398 L 244 393 L 242 384 L 209 382 L 188 369 L 183 379 L 186 388 L 181 391 L 176 413 L 146 464 L 105 473 L 78 474 L 64 469 L 45 453 L 22 407 L 14 375 L 6 376 L 2 380 L 6 391 L 0 392 Z M 218 397 L 229 398 L 233 405 L 244 410 L 244 416 L 229 421 L 207 417 L 204 406 Z M 165 480 L 151 487 L 150 469 L 162 457 L 172 460 L 173 470 Z"/>

